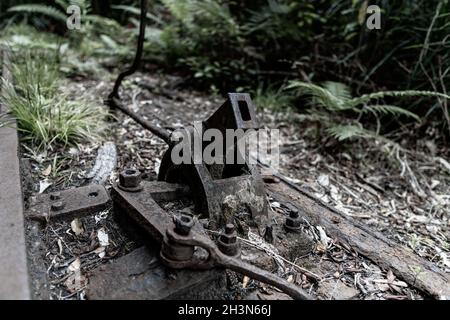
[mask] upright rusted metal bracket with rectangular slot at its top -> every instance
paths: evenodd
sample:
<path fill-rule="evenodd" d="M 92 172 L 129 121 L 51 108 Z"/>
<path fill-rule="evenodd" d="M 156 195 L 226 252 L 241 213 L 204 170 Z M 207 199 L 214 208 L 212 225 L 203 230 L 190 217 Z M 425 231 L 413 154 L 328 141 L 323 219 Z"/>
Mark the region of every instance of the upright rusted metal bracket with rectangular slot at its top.
<path fill-rule="evenodd" d="M 229 129 L 240 129 L 243 132 L 249 129 L 257 130 L 258 124 L 250 96 L 246 93 L 229 93 L 225 103 L 202 124 L 203 136 L 205 130 L 216 129 L 225 137 Z M 192 133 L 192 135 L 194 135 Z M 207 165 L 204 162 L 195 163 L 194 159 L 194 136 L 188 148 L 191 150 L 191 161 L 189 164 L 174 164 L 172 161 L 172 148 L 163 156 L 159 169 L 158 180 L 168 182 L 185 183 L 191 188 L 196 205 L 196 211 L 203 216 L 213 218 L 215 221 L 223 221 L 223 202 L 225 197 L 233 196 L 235 200 L 249 209 L 253 221 L 260 227 L 265 226 L 267 220 L 267 200 L 264 184 L 255 165 L 248 163 L 248 159 L 242 164 Z M 237 159 L 239 141 L 231 146 L 223 146 L 222 155 L 226 158 L 229 153 Z M 202 154 L 205 145 L 202 147 Z M 229 221 L 225 221 L 227 223 Z"/>

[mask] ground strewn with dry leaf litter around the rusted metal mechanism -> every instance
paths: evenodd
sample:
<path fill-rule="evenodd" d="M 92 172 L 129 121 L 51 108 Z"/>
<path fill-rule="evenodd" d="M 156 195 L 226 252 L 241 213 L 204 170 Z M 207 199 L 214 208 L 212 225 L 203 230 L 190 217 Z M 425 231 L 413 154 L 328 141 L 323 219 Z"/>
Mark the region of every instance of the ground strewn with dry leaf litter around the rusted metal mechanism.
<path fill-rule="evenodd" d="M 183 89 L 179 83 L 173 76 L 137 73 L 126 80 L 121 96 L 130 108 L 169 129 L 205 119 L 223 102 L 223 97 Z M 83 92 L 99 104 L 111 87 L 111 82 L 95 79 L 71 80 L 67 85 L 73 94 Z M 165 144 L 131 119 L 121 114 L 115 117 L 105 141 L 117 147 L 117 168 L 132 165 L 155 178 Z M 403 147 L 376 141 L 338 145 L 318 137 L 318 124 L 302 121 L 298 114 L 258 109 L 258 117 L 262 126 L 281 130 L 280 172 L 293 183 L 450 272 L 450 164 L 445 160 L 448 151 L 430 142 L 432 133 L 415 141 L 414 149 L 407 148 L 411 144 L 406 140 Z M 87 173 L 103 142 L 45 154 L 24 148 L 32 192 L 89 183 Z M 106 185 L 116 180 L 117 170 Z M 275 199 L 269 202 L 277 225 L 282 225 L 290 206 Z M 243 259 L 255 261 L 256 257 L 261 266 L 324 299 L 424 298 L 392 271 L 378 268 L 352 248 L 330 239 L 321 226 L 305 220 L 302 228 L 299 246 L 290 245 L 290 236 L 271 245 L 256 232 L 243 234 Z M 40 254 L 51 299 L 84 299 L 90 271 L 140 245 L 128 237 L 111 210 L 75 222 L 50 221 L 42 230 L 34 236 L 42 240 Z M 225 298 L 287 298 L 231 272 L 228 284 Z"/>

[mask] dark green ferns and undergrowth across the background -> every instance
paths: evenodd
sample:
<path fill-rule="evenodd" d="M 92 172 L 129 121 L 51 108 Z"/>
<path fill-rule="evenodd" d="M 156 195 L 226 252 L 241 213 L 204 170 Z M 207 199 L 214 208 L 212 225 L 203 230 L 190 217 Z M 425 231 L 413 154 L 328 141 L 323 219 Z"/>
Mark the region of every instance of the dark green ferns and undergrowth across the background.
<path fill-rule="evenodd" d="M 64 58 L 67 74 L 102 74 L 91 57 L 131 60 L 139 1 L 111 0 L 104 4 L 107 17 L 98 15 L 94 1 L 30 2 L 11 4 L 0 15 L 35 25 L 36 17 L 47 17 L 51 29 L 55 21 L 65 24 L 67 5 L 82 8 L 83 29 L 65 34 L 79 53 Z M 379 30 L 366 27 L 369 5 L 382 9 Z M 303 111 L 300 92 L 307 93 L 317 103 L 309 113 L 320 112 L 316 118 L 330 123 L 337 138 L 369 129 L 382 134 L 393 122 L 419 120 L 437 122 L 448 136 L 449 12 L 448 0 L 150 1 L 144 59 L 177 72 L 189 86 L 249 91 L 257 104 L 276 110 Z M 292 90 L 283 89 L 286 83 Z M 345 126 L 352 127 L 340 135 Z"/>

